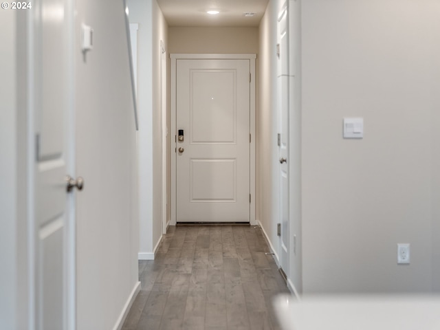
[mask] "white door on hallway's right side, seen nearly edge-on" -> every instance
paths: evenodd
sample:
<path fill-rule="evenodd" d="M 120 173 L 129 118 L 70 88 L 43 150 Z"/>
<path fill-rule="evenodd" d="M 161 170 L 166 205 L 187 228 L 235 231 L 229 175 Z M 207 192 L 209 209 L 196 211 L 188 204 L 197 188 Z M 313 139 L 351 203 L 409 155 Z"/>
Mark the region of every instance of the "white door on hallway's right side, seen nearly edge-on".
<path fill-rule="evenodd" d="M 278 146 L 279 194 L 281 215 L 280 264 L 285 274 L 289 271 L 289 29 L 287 7 L 278 19 Z M 288 275 L 288 274 L 287 274 Z"/>

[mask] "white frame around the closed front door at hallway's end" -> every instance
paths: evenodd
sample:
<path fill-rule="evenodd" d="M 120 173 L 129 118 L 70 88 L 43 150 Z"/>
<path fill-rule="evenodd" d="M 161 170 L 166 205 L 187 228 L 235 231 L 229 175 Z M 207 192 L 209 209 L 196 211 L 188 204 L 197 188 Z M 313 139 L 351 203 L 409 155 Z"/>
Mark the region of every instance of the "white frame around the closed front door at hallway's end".
<path fill-rule="evenodd" d="M 170 145 L 173 146 L 175 142 L 173 142 L 173 135 L 176 132 L 176 84 L 177 84 L 177 60 L 249 60 L 250 61 L 250 134 L 251 134 L 251 142 L 250 142 L 250 224 L 256 225 L 255 219 L 255 102 L 256 102 L 256 94 L 255 94 L 255 61 L 256 54 L 170 54 L 171 59 L 171 87 L 170 87 L 170 126 L 171 126 L 171 134 L 170 134 Z M 177 222 L 177 196 L 176 196 L 176 153 L 173 153 L 173 147 L 170 148 L 170 162 L 171 162 L 171 222 L 170 225 L 176 225 Z"/>

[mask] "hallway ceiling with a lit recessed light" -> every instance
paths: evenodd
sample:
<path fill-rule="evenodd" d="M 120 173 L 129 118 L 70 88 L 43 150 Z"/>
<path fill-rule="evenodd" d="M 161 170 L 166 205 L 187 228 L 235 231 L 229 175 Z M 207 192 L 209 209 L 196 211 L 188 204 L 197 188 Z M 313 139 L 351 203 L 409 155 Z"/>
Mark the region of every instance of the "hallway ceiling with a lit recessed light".
<path fill-rule="evenodd" d="M 258 26 L 269 0 L 157 0 L 170 26 Z M 210 15 L 208 10 L 218 10 Z M 253 17 L 245 17 L 253 12 Z"/>

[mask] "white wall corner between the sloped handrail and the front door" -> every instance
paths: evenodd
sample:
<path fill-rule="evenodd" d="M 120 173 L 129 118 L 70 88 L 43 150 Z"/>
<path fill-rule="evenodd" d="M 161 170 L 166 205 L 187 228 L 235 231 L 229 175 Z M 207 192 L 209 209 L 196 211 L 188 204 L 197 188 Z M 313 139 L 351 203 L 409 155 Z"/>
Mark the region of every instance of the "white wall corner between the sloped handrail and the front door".
<path fill-rule="evenodd" d="M 167 48 L 167 25 L 155 0 L 129 0 L 137 31 L 137 111 L 139 113 L 140 259 L 153 259 L 162 238 L 162 135 L 160 40 Z"/>

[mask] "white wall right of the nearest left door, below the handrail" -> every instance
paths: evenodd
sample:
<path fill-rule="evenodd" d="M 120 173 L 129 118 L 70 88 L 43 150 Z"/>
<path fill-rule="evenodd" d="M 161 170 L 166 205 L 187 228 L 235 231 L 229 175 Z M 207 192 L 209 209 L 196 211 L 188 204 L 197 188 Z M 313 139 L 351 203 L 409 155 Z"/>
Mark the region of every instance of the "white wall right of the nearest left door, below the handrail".
<path fill-rule="evenodd" d="M 107 330 L 138 284 L 129 44 L 122 1 L 78 0 L 75 9 L 76 175 L 85 179 L 76 194 L 76 327 Z M 94 29 L 85 55 L 83 23 Z"/>

